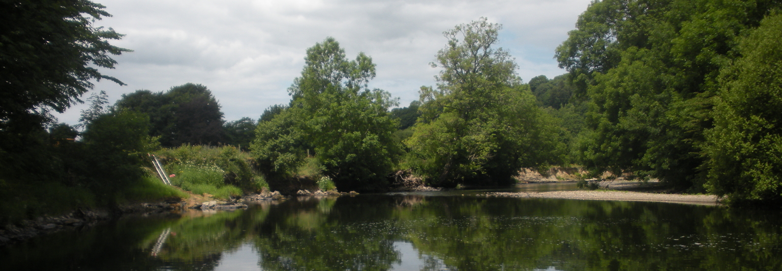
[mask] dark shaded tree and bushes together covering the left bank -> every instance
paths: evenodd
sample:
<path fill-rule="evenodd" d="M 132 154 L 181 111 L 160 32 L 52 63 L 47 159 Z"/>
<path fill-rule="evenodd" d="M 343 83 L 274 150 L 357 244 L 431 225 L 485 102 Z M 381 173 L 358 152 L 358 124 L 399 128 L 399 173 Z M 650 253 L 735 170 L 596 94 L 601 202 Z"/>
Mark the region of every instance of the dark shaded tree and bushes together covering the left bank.
<path fill-rule="evenodd" d="M 150 183 L 141 155 L 154 147 L 146 116 L 106 114 L 94 94 L 79 129 L 60 123 L 63 112 L 93 86 L 113 80 L 110 55 L 130 52 L 109 44 L 122 37 L 94 27 L 110 16 L 84 0 L 0 3 L 0 225 L 81 207 L 116 206 L 132 200 L 179 197 Z M 84 118 L 86 117 L 86 118 Z M 74 141 L 84 130 L 81 141 Z"/>

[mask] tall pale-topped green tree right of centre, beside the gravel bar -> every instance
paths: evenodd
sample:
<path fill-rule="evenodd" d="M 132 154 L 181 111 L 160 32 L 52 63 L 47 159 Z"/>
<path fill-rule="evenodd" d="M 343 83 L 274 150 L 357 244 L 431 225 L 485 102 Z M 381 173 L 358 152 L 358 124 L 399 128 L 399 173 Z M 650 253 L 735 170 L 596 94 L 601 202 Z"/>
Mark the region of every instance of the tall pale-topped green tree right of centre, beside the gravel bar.
<path fill-rule="evenodd" d="M 554 127 L 508 52 L 492 48 L 500 29 L 481 18 L 444 32 L 437 88 L 421 87 L 421 117 L 405 141 L 429 184 L 510 184 L 522 166 L 551 162 Z"/>

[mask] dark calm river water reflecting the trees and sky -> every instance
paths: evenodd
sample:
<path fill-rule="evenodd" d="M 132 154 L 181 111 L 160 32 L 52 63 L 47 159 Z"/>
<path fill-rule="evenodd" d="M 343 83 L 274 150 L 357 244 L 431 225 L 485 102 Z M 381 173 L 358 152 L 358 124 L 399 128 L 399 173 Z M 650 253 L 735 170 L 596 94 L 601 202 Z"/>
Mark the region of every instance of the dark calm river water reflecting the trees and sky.
<path fill-rule="evenodd" d="M 128 216 L 0 248 L 0 269 L 782 269 L 779 212 L 475 195 L 482 192 L 294 198 L 233 212 Z"/>

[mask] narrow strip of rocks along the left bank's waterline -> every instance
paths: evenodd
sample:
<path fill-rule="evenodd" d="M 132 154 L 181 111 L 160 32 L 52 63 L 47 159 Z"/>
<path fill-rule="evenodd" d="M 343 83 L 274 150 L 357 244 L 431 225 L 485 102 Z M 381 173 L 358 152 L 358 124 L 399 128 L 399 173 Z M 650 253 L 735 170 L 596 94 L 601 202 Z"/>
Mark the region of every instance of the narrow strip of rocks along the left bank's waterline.
<path fill-rule="evenodd" d="M 355 191 L 298 191 L 296 197 L 340 197 L 354 196 Z M 206 210 L 235 210 L 247 209 L 248 204 L 257 201 L 285 200 L 291 196 L 285 196 L 278 191 L 260 194 L 250 194 L 242 198 L 228 201 L 213 200 L 210 194 L 192 195 L 182 201 L 143 202 L 128 205 L 120 205 L 114 209 L 77 209 L 63 216 L 41 216 L 36 219 L 27 219 L 19 223 L 0 226 L 0 246 L 16 244 L 32 237 L 43 234 L 53 234 L 63 230 L 84 230 L 103 221 L 118 219 L 129 214 L 144 214 L 157 212 L 172 212 L 184 209 Z"/>

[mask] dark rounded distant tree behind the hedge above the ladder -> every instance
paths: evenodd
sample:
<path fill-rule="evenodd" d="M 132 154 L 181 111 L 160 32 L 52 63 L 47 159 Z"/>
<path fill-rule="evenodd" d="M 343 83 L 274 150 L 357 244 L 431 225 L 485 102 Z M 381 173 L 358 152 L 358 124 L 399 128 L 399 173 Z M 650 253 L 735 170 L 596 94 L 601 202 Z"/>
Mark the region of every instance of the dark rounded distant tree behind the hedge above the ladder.
<path fill-rule="evenodd" d="M 122 94 L 115 107 L 149 116 L 149 135 L 160 144 L 218 144 L 223 141 L 223 112 L 212 92 L 201 84 L 183 84 L 166 92 L 139 90 Z"/>

